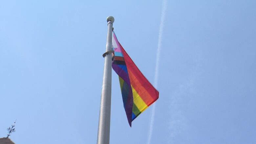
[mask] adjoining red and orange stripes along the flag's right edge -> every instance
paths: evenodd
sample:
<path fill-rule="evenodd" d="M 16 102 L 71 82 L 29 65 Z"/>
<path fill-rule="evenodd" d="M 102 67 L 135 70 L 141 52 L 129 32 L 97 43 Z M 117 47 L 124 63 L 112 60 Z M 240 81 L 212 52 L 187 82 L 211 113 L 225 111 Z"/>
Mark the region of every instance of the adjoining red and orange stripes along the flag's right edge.
<path fill-rule="evenodd" d="M 120 43 L 119 43 L 120 44 Z M 121 44 L 120 44 L 121 46 Z M 130 82 L 140 97 L 145 101 L 145 103 L 149 106 L 154 101 L 156 101 L 159 97 L 159 92 L 152 86 L 152 84 L 146 79 L 146 77 L 139 71 L 138 67 L 132 61 L 130 56 L 126 53 L 126 51 L 121 46 L 121 51 L 123 53 L 123 57 L 126 63 L 126 67 L 129 73 Z M 143 92 L 143 89 L 147 91 L 148 94 Z M 151 96 L 151 98 L 149 97 Z M 152 101 L 153 100 L 153 101 Z"/>

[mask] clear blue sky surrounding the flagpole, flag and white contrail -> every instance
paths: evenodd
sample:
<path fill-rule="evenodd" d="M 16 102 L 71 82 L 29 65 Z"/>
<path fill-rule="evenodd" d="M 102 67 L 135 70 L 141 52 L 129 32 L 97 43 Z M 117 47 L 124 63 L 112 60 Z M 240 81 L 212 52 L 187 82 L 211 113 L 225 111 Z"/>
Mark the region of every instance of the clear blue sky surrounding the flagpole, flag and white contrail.
<path fill-rule="evenodd" d="M 256 143 L 256 1 L 166 3 L 152 144 Z M 107 22 L 153 84 L 162 1 L 1 1 L 0 137 L 97 139 Z M 111 144 L 148 141 L 152 107 L 129 127 L 112 73 Z"/>

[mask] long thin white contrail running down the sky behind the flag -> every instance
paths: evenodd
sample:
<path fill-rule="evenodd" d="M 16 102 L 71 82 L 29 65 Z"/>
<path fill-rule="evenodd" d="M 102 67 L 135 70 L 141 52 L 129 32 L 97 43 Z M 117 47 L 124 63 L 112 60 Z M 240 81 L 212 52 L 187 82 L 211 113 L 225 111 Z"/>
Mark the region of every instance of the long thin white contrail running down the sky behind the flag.
<path fill-rule="evenodd" d="M 163 0 L 160 26 L 159 26 L 159 34 L 158 34 L 157 59 L 156 59 L 155 80 L 154 80 L 155 88 L 157 88 L 157 84 L 158 84 L 157 82 L 158 82 L 160 51 L 161 51 L 161 45 L 162 45 L 163 23 L 164 23 L 164 17 L 165 17 L 165 13 L 166 13 L 166 7 L 167 7 L 167 0 Z M 148 143 L 147 144 L 150 144 L 150 142 L 151 142 L 151 136 L 152 136 L 152 131 L 153 131 L 154 119 L 155 119 L 155 109 L 156 109 L 156 104 L 154 103 L 152 105 L 151 120 L 150 120 L 150 124 L 149 124 L 149 134 L 148 134 Z"/>

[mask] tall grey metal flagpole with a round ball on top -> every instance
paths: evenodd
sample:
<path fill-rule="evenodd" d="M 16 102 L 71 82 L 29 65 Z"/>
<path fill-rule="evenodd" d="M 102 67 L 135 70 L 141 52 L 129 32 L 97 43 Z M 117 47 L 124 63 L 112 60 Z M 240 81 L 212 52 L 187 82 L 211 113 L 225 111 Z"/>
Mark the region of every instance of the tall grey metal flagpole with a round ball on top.
<path fill-rule="evenodd" d="M 102 90 L 99 108 L 99 124 L 97 144 L 109 144 L 110 135 L 110 110 L 111 110 L 111 70 L 112 70 L 112 29 L 115 19 L 113 16 L 107 17 L 108 35 L 103 70 Z"/>

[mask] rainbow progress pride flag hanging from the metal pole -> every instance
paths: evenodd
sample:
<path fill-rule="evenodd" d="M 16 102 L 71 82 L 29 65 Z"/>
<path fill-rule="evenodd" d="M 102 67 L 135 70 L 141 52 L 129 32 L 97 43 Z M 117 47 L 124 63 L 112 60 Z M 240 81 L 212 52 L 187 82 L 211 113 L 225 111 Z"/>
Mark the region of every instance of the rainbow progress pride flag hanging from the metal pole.
<path fill-rule="evenodd" d="M 132 121 L 158 99 L 159 92 L 145 76 L 117 41 L 113 32 L 113 50 L 115 51 L 112 68 L 119 76 L 123 106 L 129 122 Z"/>

